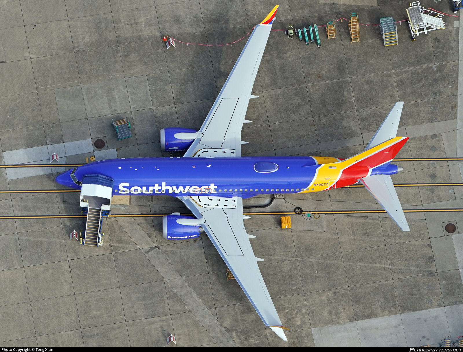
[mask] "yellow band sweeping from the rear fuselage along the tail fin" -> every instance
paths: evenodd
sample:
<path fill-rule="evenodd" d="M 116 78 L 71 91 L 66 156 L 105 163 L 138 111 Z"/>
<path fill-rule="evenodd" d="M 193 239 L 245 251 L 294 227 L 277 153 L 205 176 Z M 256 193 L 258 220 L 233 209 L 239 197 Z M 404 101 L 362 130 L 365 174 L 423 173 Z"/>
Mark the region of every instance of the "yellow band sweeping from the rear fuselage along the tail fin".
<path fill-rule="evenodd" d="M 329 189 L 334 185 L 339 178 L 341 177 L 342 171 L 344 169 L 347 169 L 348 167 L 358 163 L 359 161 L 377 153 L 378 151 L 381 151 L 382 149 L 388 148 L 390 145 L 394 145 L 397 143 L 399 140 L 401 140 L 403 137 L 395 137 L 387 140 L 386 142 L 376 145 L 375 147 L 363 151 L 357 155 L 354 155 L 353 157 L 350 157 L 349 159 L 345 159 L 343 161 L 338 161 L 334 163 L 325 163 L 319 166 L 317 168 L 317 171 L 315 172 L 315 176 L 313 177 L 312 182 L 304 189 L 303 191 L 300 191 L 298 193 L 308 193 L 308 192 L 319 192 L 319 191 L 324 191 L 326 189 Z M 318 158 L 320 157 L 313 157 L 317 162 Z M 322 158 L 320 158 L 321 161 Z M 333 158 L 334 159 L 334 158 Z M 392 159 L 392 157 L 391 157 Z"/>

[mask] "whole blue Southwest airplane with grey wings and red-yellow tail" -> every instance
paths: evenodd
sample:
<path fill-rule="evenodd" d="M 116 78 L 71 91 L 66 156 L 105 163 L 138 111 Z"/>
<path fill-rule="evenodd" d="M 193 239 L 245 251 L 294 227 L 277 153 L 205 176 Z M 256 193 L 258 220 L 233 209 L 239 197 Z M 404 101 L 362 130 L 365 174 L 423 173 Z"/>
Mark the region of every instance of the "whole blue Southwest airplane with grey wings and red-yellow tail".
<path fill-rule="evenodd" d="M 191 239 L 204 231 L 263 323 L 287 340 L 246 233 L 243 199 L 269 193 L 309 193 L 362 182 L 403 231 L 409 231 L 390 175 L 390 162 L 407 142 L 396 137 L 403 102 L 397 102 L 365 150 L 335 157 L 241 157 L 241 129 L 257 69 L 278 6 L 252 31 L 199 131 L 164 128 L 163 151 L 183 157 L 103 160 L 66 171 L 56 182 L 74 189 L 98 187 L 112 195 L 171 195 L 194 217 L 163 218 L 163 237 Z M 105 192 L 106 192 L 105 191 Z M 87 193 L 88 194 L 88 193 Z M 95 193 L 96 195 L 96 193 Z"/>

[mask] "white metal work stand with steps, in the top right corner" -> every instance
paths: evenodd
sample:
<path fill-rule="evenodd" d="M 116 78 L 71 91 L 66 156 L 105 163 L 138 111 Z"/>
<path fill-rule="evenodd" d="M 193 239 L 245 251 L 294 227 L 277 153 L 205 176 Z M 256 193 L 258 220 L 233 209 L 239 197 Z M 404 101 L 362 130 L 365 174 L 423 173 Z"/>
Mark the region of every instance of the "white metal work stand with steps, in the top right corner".
<path fill-rule="evenodd" d="M 425 10 L 419 1 L 412 2 L 407 8 L 408 26 L 412 32 L 412 38 L 419 36 L 420 33 L 427 34 L 429 31 L 436 29 L 445 29 L 445 23 L 442 20 L 443 14 L 431 10 Z"/>

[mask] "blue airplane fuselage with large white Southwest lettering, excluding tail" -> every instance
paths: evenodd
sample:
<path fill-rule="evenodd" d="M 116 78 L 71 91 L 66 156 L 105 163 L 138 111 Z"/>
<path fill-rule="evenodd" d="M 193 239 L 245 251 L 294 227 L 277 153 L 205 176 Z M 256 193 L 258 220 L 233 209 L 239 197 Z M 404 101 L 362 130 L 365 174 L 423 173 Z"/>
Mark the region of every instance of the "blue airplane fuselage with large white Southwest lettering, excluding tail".
<path fill-rule="evenodd" d="M 272 164 L 277 165 L 276 170 L 268 170 Z M 92 174 L 111 177 L 113 195 L 216 193 L 247 198 L 271 192 L 300 192 L 313 180 L 317 167 L 312 157 L 152 157 L 89 163 L 77 167 L 73 175 L 78 181 Z M 57 176 L 56 182 L 80 189 L 71 179 L 71 172 Z"/>

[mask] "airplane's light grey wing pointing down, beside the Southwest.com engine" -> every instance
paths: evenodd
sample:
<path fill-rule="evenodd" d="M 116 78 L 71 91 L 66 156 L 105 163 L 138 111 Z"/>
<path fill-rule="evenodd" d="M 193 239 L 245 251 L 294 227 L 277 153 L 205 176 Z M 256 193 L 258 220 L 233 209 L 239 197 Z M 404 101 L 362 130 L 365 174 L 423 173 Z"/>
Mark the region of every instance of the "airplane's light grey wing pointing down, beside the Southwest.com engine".
<path fill-rule="evenodd" d="M 249 235 L 243 224 L 243 200 L 240 197 L 227 198 L 235 201 L 236 207 L 209 207 L 204 201 L 207 196 L 177 197 L 198 219 L 220 256 L 256 309 L 264 324 L 286 341 L 282 323 L 276 313 L 269 291 L 265 286 L 257 259 L 249 242 Z M 219 197 L 214 197 L 218 198 Z M 225 199 L 222 199 L 225 200 Z M 203 204 L 201 207 L 199 204 Z"/>

